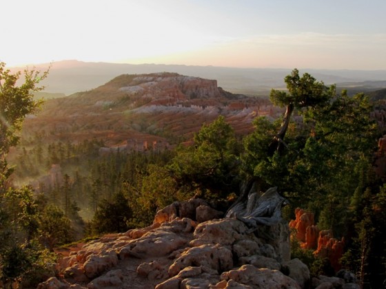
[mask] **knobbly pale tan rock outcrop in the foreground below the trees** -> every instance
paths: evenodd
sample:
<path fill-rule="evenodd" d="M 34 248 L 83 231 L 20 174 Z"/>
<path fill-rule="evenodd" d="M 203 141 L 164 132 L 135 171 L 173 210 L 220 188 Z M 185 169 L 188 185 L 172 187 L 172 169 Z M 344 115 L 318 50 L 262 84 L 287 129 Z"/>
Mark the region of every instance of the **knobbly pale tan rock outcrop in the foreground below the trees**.
<path fill-rule="evenodd" d="M 38 288 L 308 288 L 307 266 L 290 259 L 286 222 L 251 231 L 221 215 L 204 200 L 174 202 L 147 228 L 101 237 L 63 257 L 59 275 Z"/>

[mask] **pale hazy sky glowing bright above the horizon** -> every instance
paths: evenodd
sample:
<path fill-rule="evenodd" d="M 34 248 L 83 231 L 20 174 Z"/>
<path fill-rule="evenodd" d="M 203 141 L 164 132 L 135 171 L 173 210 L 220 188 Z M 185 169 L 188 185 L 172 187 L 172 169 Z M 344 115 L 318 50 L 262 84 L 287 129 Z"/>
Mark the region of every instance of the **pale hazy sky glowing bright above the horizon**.
<path fill-rule="evenodd" d="M 0 61 L 386 69 L 386 0 L 1 0 Z"/>

